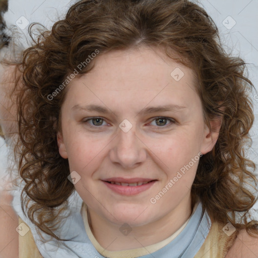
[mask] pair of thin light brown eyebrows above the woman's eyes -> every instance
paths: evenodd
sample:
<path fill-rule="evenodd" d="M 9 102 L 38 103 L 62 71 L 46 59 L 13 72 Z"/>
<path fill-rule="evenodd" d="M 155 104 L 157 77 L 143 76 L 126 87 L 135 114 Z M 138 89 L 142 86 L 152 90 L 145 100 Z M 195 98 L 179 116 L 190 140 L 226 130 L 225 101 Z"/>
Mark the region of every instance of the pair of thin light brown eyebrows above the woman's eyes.
<path fill-rule="evenodd" d="M 99 106 L 99 105 L 85 105 L 85 106 L 80 106 L 80 105 L 75 105 L 72 107 L 74 110 L 85 110 L 85 111 L 96 111 L 104 114 L 110 114 L 113 113 L 110 109 L 106 108 L 105 106 Z M 149 113 L 156 113 L 156 112 L 165 112 L 165 111 L 184 111 L 186 110 L 187 107 L 185 106 L 179 106 L 179 105 L 162 105 L 162 106 L 150 106 L 150 107 L 145 107 L 143 108 L 138 114 L 149 114 Z M 114 113 L 113 113 L 114 114 Z M 137 114 L 137 115 L 138 115 Z"/>

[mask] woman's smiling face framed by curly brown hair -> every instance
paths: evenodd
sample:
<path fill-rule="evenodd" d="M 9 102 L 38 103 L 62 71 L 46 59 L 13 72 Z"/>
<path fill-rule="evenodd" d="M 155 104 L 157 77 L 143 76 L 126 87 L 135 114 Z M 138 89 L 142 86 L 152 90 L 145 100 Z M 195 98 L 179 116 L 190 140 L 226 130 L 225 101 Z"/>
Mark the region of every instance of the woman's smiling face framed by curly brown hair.
<path fill-rule="evenodd" d="M 99 55 L 67 86 L 59 153 L 90 210 L 136 226 L 189 203 L 200 156 L 218 137 L 193 84 L 190 69 L 141 47 Z"/>

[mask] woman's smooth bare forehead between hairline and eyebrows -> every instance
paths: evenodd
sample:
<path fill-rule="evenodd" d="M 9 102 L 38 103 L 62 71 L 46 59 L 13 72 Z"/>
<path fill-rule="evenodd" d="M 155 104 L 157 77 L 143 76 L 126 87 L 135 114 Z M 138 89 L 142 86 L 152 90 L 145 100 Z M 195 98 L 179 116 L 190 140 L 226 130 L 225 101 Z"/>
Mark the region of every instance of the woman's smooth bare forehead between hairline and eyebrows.
<path fill-rule="evenodd" d="M 76 104 L 90 99 L 99 104 L 103 104 L 101 100 L 123 100 L 123 104 L 151 101 L 153 105 L 161 100 L 176 105 L 198 101 L 192 70 L 173 61 L 163 49 L 145 46 L 100 54 L 89 73 L 69 84 L 67 97 Z"/>

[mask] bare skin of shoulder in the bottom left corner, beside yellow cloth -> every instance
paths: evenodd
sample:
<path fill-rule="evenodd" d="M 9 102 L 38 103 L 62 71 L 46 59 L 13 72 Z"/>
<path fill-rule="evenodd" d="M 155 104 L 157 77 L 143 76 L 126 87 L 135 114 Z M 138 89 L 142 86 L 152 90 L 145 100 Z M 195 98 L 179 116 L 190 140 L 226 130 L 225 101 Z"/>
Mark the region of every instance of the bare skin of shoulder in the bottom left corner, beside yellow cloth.
<path fill-rule="evenodd" d="M 19 234 L 16 228 L 19 217 L 12 207 L 13 196 L 8 191 L 0 191 L 0 250 L 1 258 L 17 258 L 19 255 Z"/>

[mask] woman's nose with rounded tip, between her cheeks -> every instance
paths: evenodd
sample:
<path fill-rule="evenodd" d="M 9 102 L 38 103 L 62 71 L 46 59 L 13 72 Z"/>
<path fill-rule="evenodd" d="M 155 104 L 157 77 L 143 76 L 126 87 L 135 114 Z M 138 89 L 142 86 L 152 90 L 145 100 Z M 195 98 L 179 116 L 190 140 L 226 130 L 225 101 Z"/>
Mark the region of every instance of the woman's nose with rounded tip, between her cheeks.
<path fill-rule="evenodd" d="M 122 168 L 131 169 L 146 160 L 146 146 L 136 135 L 134 127 L 126 133 L 118 128 L 118 135 L 112 141 L 109 157 Z"/>

